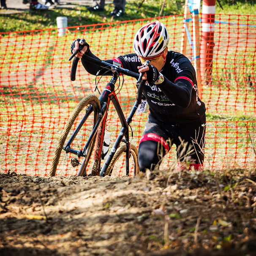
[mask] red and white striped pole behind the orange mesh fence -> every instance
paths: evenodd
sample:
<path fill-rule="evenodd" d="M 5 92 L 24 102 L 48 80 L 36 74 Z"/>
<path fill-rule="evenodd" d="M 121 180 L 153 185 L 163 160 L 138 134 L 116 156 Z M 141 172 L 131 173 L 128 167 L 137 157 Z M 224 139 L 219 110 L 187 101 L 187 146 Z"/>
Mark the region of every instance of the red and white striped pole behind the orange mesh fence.
<path fill-rule="evenodd" d="M 216 0 L 203 0 L 202 36 L 200 46 L 200 73 L 203 83 L 209 84 L 212 74 L 212 57 L 214 47 L 214 22 Z"/>

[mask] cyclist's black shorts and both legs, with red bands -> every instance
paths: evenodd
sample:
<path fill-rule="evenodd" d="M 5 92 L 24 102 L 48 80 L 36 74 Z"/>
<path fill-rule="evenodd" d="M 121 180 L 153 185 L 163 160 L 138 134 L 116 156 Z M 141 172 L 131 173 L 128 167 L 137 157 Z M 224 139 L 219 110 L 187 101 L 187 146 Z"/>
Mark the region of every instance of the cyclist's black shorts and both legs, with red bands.
<path fill-rule="evenodd" d="M 176 145 L 177 161 L 180 168 L 202 169 L 205 146 L 205 115 L 189 125 L 167 125 L 149 114 L 139 144 L 139 167 L 154 169 L 163 156 Z"/>

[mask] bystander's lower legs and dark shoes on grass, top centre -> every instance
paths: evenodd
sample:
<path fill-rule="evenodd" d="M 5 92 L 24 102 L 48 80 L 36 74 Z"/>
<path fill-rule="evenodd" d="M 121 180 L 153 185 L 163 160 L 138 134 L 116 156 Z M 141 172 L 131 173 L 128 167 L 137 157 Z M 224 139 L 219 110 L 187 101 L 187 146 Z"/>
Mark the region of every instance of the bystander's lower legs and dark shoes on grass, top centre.
<path fill-rule="evenodd" d="M 110 13 L 113 17 L 120 17 L 125 11 L 125 0 L 114 0 L 114 10 Z M 88 7 L 88 11 L 103 11 L 105 0 L 93 0 L 93 5 Z"/>

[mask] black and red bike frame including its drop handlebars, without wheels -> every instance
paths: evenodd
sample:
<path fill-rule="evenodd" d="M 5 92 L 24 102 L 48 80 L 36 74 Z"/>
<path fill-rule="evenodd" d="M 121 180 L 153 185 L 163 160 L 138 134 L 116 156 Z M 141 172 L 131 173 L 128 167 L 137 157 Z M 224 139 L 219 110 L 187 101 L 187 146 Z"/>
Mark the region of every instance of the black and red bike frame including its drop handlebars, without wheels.
<path fill-rule="evenodd" d="M 83 39 L 79 41 L 79 49 L 77 51 L 81 51 L 82 47 L 84 46 L 84 43 L 85 43 L 85 41 Z M 69 60 L 71 60 L 76 55 L 76 52 L 74 52 L 72 54 L 72 56 L 69 58 Z M 102 68 L 109 69 L 109 73 L 111 70 L 112 78 L 111 78 L 110 82 L 106 85 L 106 87 L 104 88 L 104 90 L 102 91 L 101 95 L 98 98 L 100 101 L 100 104 L 101 104 L 101 109 L 98 112 L 98 121 L 97 121 L 95 127 L 93 128 L 93 131 L 92 131 L 86 145 L 84 146 L 83 150 L 77 151 L 77 150 L 72 149 L 71 143 L 75 139 L 78 131 L 82 128 L 82 125 L 84 125 L 89 114 L 93 111 L 92 106 L 90 106 L 87 109 L 87 111 L 86 111 L 87 113 L 84 115 L 82 121 L 79 123 L 78 127 L 74 131 L 73 135 L 69 139 L 66 146 L 63 147 L 63 149 L 66 151 L 66 153 L 73 153 L 73 154 L 77 155 L 78 157 L 81 157 L 81 156 L 85 157 L 86 149 L 89 147 L 90 142 L 94 139 L 94 136 L 96 136 L 96 140 L 95 140 L 96 147 L 95 147 L 95 152 L 94 152 L 93 169 L 92 169 L 91 174 L 104 176 L 107 168 L 109 167 L 109 164 L 110 164 L 112 158 L 114 157 L 114 154 L 115 154 L 117 148 L 119 147 L 120 143 L 122 142 L 123 138 L 125 137 L 125 139 L 124 139 L 124 142 L 126 144 L 125 167 L 126 167 L 126 175 L 128 175 L 129 174 L 129 158 L 130 158 L 129 125 L 131 124 L 132 118 L 142 100 L 142 91 L 143 91 L 143 87 L 145 84 L 145 80 L 142 80 L 142 76 L 144 73 L 137 74 L 128 69 L 122 68 L 118 65 L 107 63 L 105 61 L 95 59 L 88 55 L 84 55 L 83 59 L 88 61 L 89 63 L 99 65 Z M 72 67 L 71 67 L 71 74 L 70 74 L 71 81 L 74 81 L 76 79 L 76 68 L 77 68 L 78 61 L 79 61 L 79 58 L 74 57 Z M 149 65 L 149 64 L 150 64 L 150 61 L 148 61 L 148 60 L 144 63 L 144 65 Z M 98 72 L 98 73 L 100 74 L 100 72 Z M 123 114 L 123 110 L 120 106 L 120 103 L 117 99 L 117 95 L 114 90 L 115 84 L 117 82 L 117 79 L 119 78 L 120 73 L 128 75 L 128 76 L 132 76 L 132 77 L 135 77 L 136 79 L 138 79 L 137 83 L 136 83 L 136 85 L 138 87 L 136 101 L 135 101 L 135 103 L 131 109 L 131 112 L 127 118 L 125 118 L 125 116 Z M 106 74 L 106 72 L 103 74 Z M 101 166 L 101 155 L 102 155 L 105 127 L 106 127 L 106 119 L 107 119 L 107 113 L 108 113 L 110 101 L 112 101 L 114 108 L 117 111 L 122 128 L 120 130 L 120 133 L 117 136 L 117 139 L 114 142 L 114 146 L 110 150 L 108 158 L 106 159 L 105 163 L 103 164 L 103 166 L 101 168 L 100 167 Z M 78 174 L 78 176 L 79 176 L 79 174 Z"/>

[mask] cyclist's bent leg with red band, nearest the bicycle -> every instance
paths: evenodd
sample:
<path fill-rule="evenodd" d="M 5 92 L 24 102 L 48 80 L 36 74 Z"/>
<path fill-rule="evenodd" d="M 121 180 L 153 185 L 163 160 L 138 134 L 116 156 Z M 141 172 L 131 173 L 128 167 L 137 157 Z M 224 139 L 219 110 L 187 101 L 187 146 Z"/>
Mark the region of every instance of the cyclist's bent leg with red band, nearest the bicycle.
<path fill-rule="evenodd" d="M 153 170 L 169 151 L 167 143 L 168 136 L 162 130 L 157 121 L 149 117 L 145 130 L 139 143 L 139 169 L 145 172 L 146 169 Z"/>

